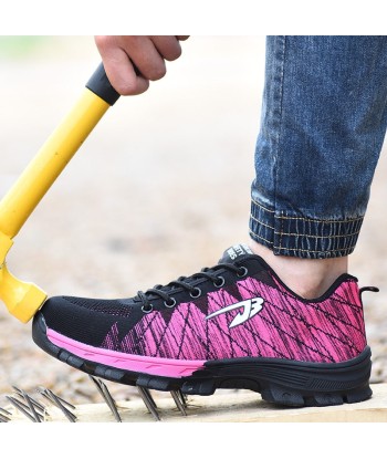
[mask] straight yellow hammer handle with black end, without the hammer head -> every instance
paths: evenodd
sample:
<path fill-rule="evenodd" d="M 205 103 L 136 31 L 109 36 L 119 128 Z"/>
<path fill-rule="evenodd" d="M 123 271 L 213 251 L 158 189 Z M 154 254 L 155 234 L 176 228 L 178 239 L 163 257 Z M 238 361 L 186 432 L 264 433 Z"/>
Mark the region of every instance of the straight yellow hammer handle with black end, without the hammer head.
<path fill-rule="evenodd" d="M 119 95 L 101 64 L 84 93 L 0 201 L 0 233 L 13 239 L 42 197 Z"/>

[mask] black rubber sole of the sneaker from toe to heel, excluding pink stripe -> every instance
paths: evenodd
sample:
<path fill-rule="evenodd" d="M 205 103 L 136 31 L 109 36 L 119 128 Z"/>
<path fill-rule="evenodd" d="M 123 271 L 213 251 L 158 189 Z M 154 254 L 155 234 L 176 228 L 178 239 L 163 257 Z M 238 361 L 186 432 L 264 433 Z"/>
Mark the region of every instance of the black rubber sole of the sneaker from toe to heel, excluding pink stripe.
<path fill-rule="evenodd" d="M 250 389 L 281 406 L 333 406 L 370 398 L 370 348 L 335 364 L 282 358 L 241 357 L 207 361 L 190 376 L 170 377 L 122 369 L 73 354 L 52 343 L 43 314 L 33 319 L 32 337 L 48 354 L 90 375 L 116 383 L 187 395 L 212 395 L 217 389 Z"/>

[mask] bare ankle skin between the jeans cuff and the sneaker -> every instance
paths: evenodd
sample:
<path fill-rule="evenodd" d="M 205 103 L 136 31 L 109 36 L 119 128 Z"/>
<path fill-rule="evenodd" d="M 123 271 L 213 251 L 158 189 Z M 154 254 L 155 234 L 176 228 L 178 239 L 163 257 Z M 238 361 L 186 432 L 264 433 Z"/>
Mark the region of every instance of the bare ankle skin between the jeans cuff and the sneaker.
<path fill-rule="evenodd" d="M 289 289 L 307 300 L 324 294 L 332 283 L 348 270 L 348 257 L 302 259 L 274 255 L 270 249 L 253 240 L 249 246 L 255 254 L 263 258 Z"/>

